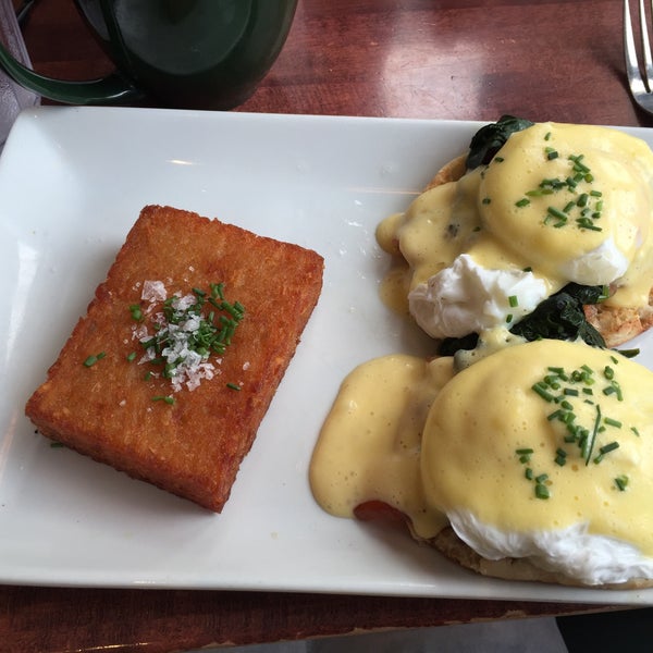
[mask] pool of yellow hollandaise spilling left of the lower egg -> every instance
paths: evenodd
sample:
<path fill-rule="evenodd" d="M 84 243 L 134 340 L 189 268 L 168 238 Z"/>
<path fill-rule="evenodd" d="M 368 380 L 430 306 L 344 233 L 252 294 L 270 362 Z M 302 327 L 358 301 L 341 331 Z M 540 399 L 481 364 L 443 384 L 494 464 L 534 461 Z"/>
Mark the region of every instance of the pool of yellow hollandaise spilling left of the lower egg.
<path fill-rule="evenodd" d="M 310 465 L 320 506 L 338 517 L 382 501 L 410 517 L 422 538 L 446 518 L 428 507 L 420 478 L 421 436 L 439 390 L 452 378 L 451 358 L 427 362 L 387 356 L 356 368 L 343 382 Z"/>

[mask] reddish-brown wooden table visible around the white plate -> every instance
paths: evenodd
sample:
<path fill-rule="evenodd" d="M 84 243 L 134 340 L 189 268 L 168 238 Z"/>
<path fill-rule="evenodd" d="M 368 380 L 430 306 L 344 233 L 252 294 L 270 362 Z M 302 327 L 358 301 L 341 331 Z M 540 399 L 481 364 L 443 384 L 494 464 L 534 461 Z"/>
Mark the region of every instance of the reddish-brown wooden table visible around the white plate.
<path fill-rule="evenodd" d="M 17 2 L 16 2 L 17 4 Z M 72 2 L 42 0 L 25 39 L 45 74 L 111 69 Z M 300 0 L 245 111 L 648 125 L 626 90 L 615 0 Z M 609 593 L 605 595 L 609 601 Z M 608 609 L 609 606 L 601 606 Z M 0 588 L 0 651 L 163 653 L 478 619 L 574 604 L 220 591 Z"/>

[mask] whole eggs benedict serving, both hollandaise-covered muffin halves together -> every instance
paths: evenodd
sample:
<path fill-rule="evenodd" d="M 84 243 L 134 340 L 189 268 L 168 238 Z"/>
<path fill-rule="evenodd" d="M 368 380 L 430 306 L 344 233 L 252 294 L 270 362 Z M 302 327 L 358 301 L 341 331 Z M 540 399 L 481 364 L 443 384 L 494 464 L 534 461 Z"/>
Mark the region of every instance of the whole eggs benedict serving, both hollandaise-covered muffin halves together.
<path fill-rule="evenodd" d="M 480 147 L 479 147 L 480 143 Z M 489 576 L 653 586 L 653 153 L 502 119 L 377 231 L 382 285 L 440 356 L 344 380 L 310 466 L 338 517 L 399 517 Z"/>

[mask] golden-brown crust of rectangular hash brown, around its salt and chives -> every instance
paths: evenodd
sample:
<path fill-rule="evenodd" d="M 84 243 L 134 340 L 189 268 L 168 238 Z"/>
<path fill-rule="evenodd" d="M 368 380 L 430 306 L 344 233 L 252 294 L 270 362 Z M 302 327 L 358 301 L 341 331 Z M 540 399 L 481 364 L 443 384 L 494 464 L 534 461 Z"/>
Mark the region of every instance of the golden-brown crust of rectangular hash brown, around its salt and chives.
<path fill-rule="evenodd" d="M 322 257 L 297 245 L 146 207 L 26 415 L 48 438 L 221 512 L 318 300 L 322 271 Z M 145 381 L 145 366 L 127 361 L 139 346 L 128 307 L 145 280 L 184 294 L 224 282 L 226 299 L 246 309 L 220 373 L 176 393 L 173 405 L 152 401 L 171 394 L 169 381 Z M 100 352 L 95 366 L 83 365 Z"/>

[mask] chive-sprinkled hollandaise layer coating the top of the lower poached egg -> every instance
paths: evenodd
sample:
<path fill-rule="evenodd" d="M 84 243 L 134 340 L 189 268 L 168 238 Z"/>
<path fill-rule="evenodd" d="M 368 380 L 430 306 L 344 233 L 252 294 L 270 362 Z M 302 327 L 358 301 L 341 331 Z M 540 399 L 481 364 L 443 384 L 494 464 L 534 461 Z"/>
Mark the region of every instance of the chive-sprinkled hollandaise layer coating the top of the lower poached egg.
<path fill-rule="evenodd" d="M 580 522 L 653 557 L 653 373 L 577 343 L 508 347 L 439 393 L 421 471 L 443 512 L 513 532 Z"/>

